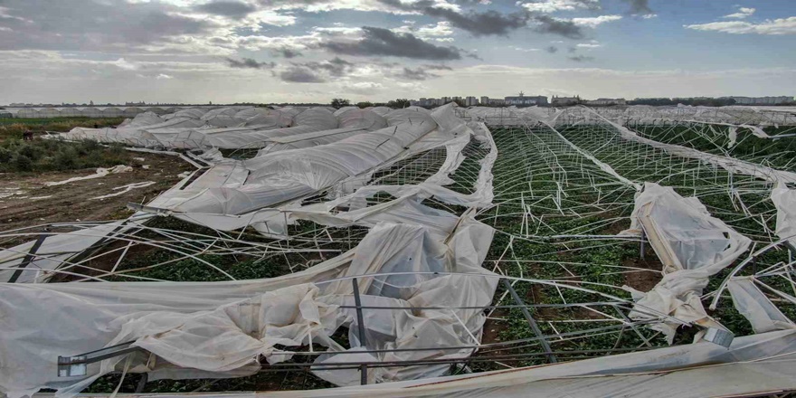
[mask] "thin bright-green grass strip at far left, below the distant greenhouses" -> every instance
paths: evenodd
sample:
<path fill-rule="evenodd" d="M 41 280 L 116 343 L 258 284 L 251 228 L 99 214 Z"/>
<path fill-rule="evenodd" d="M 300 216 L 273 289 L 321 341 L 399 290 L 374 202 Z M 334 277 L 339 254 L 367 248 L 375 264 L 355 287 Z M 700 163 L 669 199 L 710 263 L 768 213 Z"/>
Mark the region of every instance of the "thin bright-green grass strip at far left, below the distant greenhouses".
<path fill-rule="evenodd" d="M 66 132 L 72 128 L 100 128 L 118 126 L 124 118 L 0 118 L 0 141 L 22 139 L 25 131 Z"/>

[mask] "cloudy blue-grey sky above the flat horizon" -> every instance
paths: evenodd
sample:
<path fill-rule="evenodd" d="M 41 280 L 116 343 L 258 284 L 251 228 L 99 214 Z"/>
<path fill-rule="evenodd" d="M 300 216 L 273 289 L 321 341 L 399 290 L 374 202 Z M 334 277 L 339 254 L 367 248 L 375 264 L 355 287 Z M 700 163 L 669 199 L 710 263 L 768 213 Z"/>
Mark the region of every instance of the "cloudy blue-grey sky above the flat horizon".
<path fill-rule="evenodd" d="M 794 0 L 0 0 L 0 104 L 796 94 Z"/>

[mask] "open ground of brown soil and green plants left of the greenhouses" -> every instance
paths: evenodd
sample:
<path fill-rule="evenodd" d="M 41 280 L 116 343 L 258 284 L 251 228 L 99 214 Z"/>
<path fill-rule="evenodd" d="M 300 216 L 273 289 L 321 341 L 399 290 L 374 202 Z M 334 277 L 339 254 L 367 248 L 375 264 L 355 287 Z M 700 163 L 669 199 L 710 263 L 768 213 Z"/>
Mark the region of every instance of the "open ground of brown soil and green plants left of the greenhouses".
<path fill-rule="evenodd" d="M 179 175 L 194 167 L 176 156 L 135 153 L 120 145 L 96 141 L 66 142 L 44 139 L 23 141 L 22 133 L 33 130 L 69 131 L 75 127 L 116 126 L 123 118 L 0 118 L 0 221 L 3 230 L 36 224 L 69 223 L 77 220 L 108 221 L 127 218 L 127 204 L 151 200 L 179 181 Z M 76 176 L 92 175 L 98 167 L 131 166 L 127 173 L 99 179 L 47 186 Z M 146 166 L 146 168 L 145 168 Z M 118 193 L 119 186 L 152 181 L 107 199 L 92 199 Z"/>

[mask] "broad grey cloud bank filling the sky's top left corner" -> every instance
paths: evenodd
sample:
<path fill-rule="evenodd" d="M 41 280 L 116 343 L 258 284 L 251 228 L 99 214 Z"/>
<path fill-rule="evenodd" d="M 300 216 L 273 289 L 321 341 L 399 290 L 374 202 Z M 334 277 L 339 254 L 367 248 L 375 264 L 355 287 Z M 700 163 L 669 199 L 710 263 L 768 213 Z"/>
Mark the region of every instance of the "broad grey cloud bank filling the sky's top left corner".
<path fill-rule="evenodd" d="M 0 50 L 128 51 L 164 43 L 179 35 L 202 35 L 208 21 L 174 11 L 159 2 L 128 3 L 100 0 L 3 0 L 4 32 Z"/>

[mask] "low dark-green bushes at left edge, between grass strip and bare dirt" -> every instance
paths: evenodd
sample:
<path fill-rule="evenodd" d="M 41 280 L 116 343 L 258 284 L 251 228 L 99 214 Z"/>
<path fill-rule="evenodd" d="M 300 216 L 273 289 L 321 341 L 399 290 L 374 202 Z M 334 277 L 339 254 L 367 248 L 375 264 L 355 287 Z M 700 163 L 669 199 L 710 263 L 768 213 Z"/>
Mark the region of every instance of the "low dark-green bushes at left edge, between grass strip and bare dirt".
<path fill-rule="evenodd" d="M 60 139 L 0 141 L 0 173 L 78 170 L 129 165 L 130 155 L 121 145 L 101 146 L 97 141 Z"/>

